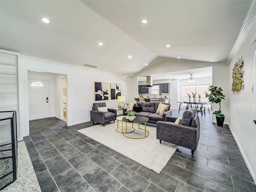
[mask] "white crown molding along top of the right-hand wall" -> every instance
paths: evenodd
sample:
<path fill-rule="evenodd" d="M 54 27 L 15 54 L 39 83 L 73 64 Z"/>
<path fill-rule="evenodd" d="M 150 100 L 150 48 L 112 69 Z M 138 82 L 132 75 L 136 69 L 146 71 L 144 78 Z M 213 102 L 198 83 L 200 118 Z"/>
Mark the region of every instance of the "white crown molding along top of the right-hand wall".
<path fill-rule="evenodd" d="M 238 52 L 238 49 L 240 48 L 242 42 L 244 41 L 244 38 L 246 37 L 248 30 L 252 26 L 252 22 L 254 21 L 255 17 L 256 17 L 256 0 L 252 0 L 251 6 L 246 14 L 244 23 L 240 29 L 236 42 L 230 52 L 230 55 L 228 56 L 228 60 L 226 62 L 227 65 L 230 64 L 230 62 L 234 58 L 234 55 Z"/>

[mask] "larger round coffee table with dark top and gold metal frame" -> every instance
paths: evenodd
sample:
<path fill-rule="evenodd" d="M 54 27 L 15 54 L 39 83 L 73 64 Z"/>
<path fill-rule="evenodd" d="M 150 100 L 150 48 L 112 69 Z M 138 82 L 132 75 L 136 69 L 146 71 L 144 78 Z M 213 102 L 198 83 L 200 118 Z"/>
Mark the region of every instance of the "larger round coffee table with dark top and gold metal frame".
<path fill-rule="evenodd" d="M 147 136 L 149 136 L 149 132 L 146 130 L 146 122 L 149 121 L 149 118 L 148 117 L 144 117 L 144 116 L 136 116 L 136 118 L 134 118 L 133 121 L 130 121 L 128 119 L 126 119 L 125 117 L 122 118 L 122 121 L 123 122 L 126 122 L 126 128 L 127 128 L 127 123 L 132 123 L 132 128 L 133 127 L 133 124 L 138 124 L 138 128 L 141 129 L 141 130 L 144 130 L 145 131 L 145 136 L 143 137 L 129 137 L 127 135 L 125 135 L 126 133 L 124 131 L 122 131 L 122 134 L 123 136 L 127 137 L 127 138 L 130 138 L 130 139 L 143 139 L 143 138 L 146 138 Z M 141 123 L 144 123 L 144 129 L 140 128 L 140 124 Z M 122 126 L 122 130 L 124 130 L 124 126 Z M 132 131 L 133 132 L 133 131 Z M 128 133 L 127 133 L 128 134 Z"/>

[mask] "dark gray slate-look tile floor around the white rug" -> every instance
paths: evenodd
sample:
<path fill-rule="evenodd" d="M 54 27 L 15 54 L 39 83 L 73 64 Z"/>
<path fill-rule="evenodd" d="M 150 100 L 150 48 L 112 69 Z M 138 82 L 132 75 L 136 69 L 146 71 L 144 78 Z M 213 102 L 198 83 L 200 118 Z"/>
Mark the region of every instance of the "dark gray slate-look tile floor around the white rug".
<path fill-rule="evenodd" d="M 76 131 L 92 122 L 32 120 L 24 141 L 42 192 L 256 192 L 228 126 L 212 124 L 209 114 L 200 123 L 194 156 L 179 146 L 160 174 Z"/>

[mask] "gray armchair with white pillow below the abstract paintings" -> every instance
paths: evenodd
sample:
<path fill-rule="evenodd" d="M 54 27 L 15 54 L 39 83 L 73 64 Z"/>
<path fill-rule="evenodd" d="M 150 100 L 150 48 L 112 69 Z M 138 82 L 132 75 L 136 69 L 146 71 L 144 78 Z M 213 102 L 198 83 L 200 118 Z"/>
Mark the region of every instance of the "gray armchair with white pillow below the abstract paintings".
<path fill-rule="evenodd" d="M 116 109 L 109 109 L 108 112 L 101 112 L 98 111 L 98 107 L 106 107 L 106 103 L 93 103 L 92 104 L 92 110 L 90 111 L 91 121 L 94 124 L 94 122 L 103 124 L 105 126 L 105 123 L 108 123 L 110 121 L 115 122 L 116 120 Z"/>

